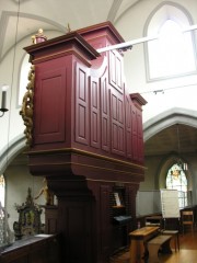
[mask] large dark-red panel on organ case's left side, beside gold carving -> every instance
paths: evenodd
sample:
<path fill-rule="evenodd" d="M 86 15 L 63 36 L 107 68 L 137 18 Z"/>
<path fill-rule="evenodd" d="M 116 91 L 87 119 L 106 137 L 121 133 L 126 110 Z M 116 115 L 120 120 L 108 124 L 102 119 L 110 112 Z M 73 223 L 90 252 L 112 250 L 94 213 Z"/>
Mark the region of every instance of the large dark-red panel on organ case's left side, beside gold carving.
<path fill-rule="evenodd" d="M 63 62 L 63 61 L 62 61 Z M 43 65 L 37 70 L 37 87 L 35 92 L 35 144 L 63 141 L 65 104 L 66 104 L 66 68 L 60 65 L 55 69 L 55 62 Z M 50 68 L 51 67 L 51 68 Z"/>

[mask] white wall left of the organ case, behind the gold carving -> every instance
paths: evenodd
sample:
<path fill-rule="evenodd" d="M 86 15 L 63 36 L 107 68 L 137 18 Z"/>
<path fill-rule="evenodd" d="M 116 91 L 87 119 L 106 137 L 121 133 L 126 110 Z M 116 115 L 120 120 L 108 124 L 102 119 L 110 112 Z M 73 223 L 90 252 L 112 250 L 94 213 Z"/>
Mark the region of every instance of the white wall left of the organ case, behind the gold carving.
<path fill-rule="evenodd" d="M 48 38 L 53 38 L 58 35 L 60 35 L 60 32 L 58 31 L 51 31 L 47 33 Z M 7 106 L 9 111 L 5 112 L 4 116 L 0 118 L 0 157 L 3 156 L 3 152 L 13 144 L 13 141 L 15 142 L 18 138 L 24 137 L 25 126 L 23 124 L 22 116 L 20 115 L 21 105 L 19 105 L 20 70 L 22 60 L 26 54 L 23 48 L 30 45 L 32 45 L 32 39 L 28 35 L 22 42 L 20 42 L 16 47 L 13 47 L 0 64 L 0 81 L 1 83 L 5 83 L 10 87 L 7 94 Z M 26 78 L 27 84 L 27 76 L 24 76 L 24 78 Z M 26 92 L 26 87 L 24 92 Z M 22 145 L 22 147 L 24 147 L 24 145 Z M 0 173 L 3 173 L 3 171 L 4 165 L 2 163 L 2 159 L 0 158 Z"/>

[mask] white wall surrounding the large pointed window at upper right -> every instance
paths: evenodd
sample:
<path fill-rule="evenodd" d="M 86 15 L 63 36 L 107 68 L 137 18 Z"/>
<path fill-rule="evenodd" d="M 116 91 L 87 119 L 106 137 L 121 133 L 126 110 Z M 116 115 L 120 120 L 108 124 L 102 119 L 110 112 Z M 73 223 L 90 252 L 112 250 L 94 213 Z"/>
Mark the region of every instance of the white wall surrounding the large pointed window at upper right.
<path fill-rule="evenodd" d="M 170 1 L 139 1 L 134 8 L 128 9 L 115 24 L 125 41 L 143 37 L 144 26 L 150 13 L 163 2 Z M 173 4 L 177 3 L 178 7 L 182 5 L 193 19 L 194 24 L 197 24 L 197 13 L 194 11 L 197 8 L 195 0 L 173 2 Z M 173 107 L 194 110 L 196 112 L 197 75 L 147 82 L 143 44 L 134 45 L 131 50 L 127 50 L 124 61 L 127 87 L 130 93 L 139 92 L 148 102 L 143 106 L 143 123 Z M 155 90 L 164 90 L 164 93 L 155 95 L 152 92 Z"/>

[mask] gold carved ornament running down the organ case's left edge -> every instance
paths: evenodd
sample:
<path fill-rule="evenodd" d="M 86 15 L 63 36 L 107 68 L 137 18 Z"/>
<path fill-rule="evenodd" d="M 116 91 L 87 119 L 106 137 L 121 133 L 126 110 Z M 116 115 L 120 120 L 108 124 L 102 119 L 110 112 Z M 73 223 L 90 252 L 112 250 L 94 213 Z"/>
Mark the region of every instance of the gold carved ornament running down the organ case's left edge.
<path fill-rule="evenodd" d="M 32 145 L 32 130 L 33 130 L 33 98 L 34 98 L 34 82 L 35 82 L 35 66 L 31 66 L 28 72 L 28 83 L 26 85 L 26 92 L 23 96 L 22 108 L 20 115 L 22 115 L 24 125 L 26 126 L 24 134 L 26 136 L 26 145 Z"/>

